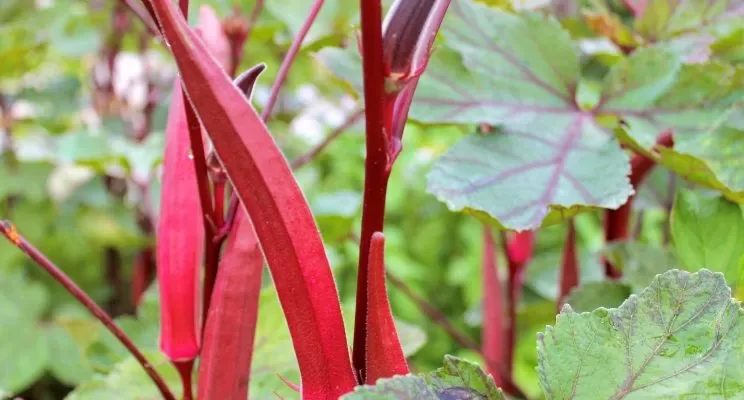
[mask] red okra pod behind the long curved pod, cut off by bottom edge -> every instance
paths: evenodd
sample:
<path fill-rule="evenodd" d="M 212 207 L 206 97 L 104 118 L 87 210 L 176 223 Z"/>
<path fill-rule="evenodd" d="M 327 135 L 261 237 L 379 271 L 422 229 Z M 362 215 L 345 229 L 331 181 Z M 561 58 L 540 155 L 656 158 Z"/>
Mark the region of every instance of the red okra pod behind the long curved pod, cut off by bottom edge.
<path fill-rule="evenodd" d="M 199 358 L 199 399 L 247 399 L 263 253 L 243 210 L 220 260 Z"/>

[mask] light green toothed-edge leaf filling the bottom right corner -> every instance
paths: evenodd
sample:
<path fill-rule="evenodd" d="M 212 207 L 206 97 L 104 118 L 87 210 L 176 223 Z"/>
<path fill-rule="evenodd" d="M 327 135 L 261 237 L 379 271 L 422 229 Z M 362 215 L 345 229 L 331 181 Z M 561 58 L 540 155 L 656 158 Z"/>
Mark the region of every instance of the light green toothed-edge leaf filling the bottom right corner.
<path fill-rule="evenodd" d="M 615 309 L 564 307 L 538 336 L 548 399 L 734 398 L 744 324 L 723 275 L 673 270 Z"/>

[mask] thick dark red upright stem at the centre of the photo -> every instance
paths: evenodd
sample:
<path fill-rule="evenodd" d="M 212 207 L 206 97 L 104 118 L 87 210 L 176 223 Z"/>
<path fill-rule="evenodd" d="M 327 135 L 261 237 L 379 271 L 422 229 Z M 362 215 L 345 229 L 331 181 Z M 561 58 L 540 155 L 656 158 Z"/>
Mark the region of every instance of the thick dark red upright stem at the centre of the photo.
<path fill-rule="evenodd" d="M 379 0 L 361 0 L 361 22 L 367 158 L 364 163 L 364 206 L 359 244 L 352 362 L 359 375 L 359 381 L 364 382 L 369 245 L 372 235 L 383 231 L 385 197 L 390 176 L 384 127 L 386 96 L 382 51 L 382 4 Z"/>

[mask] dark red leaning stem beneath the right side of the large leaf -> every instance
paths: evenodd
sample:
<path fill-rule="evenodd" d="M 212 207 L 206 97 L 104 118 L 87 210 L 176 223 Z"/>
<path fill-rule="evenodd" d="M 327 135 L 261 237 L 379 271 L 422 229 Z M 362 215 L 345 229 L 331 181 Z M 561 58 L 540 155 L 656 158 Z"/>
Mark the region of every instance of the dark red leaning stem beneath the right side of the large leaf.
<path fill-rule="evenodd" d="M 672 147 L 674 138 L 671 131 L 665 131 L 656 139 L 656 147 Z M 630 184 L 638 192 L 641 183 L 646 179 L 651 169 L 656 165 L 656 160 L 648 158 L 643 154 L 635 154 L 630 161 Z M 630 237 L 630 214 L 633 209 L 635 195 L 617 210 L 608 210 L 605 215 L 605 241 L 607 243 L 625 240 Z M 621 276 L 609 260 L 604 261 L 605 275 L 611 279 Z"/>

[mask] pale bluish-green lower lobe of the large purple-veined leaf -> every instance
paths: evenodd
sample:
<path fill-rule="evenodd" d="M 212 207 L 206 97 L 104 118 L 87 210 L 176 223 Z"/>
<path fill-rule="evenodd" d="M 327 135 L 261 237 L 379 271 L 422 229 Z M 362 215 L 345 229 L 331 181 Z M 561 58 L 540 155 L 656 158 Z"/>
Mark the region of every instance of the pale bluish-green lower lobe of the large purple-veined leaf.
<path fill-rule="evenodd" d="M 434 165 L 428 190 L 452 210 L 484 211 L 516 230 L 555 224 L 586 207 L 615 209 L 632 191 L 627 156 L 606 136 L 597 146 L 579 139 L 592 133 L 575 122 L 561 143 L 549 142 L 558 132 L 548 130 L 538 141 L 515 131 L 468 136 Z"/>

